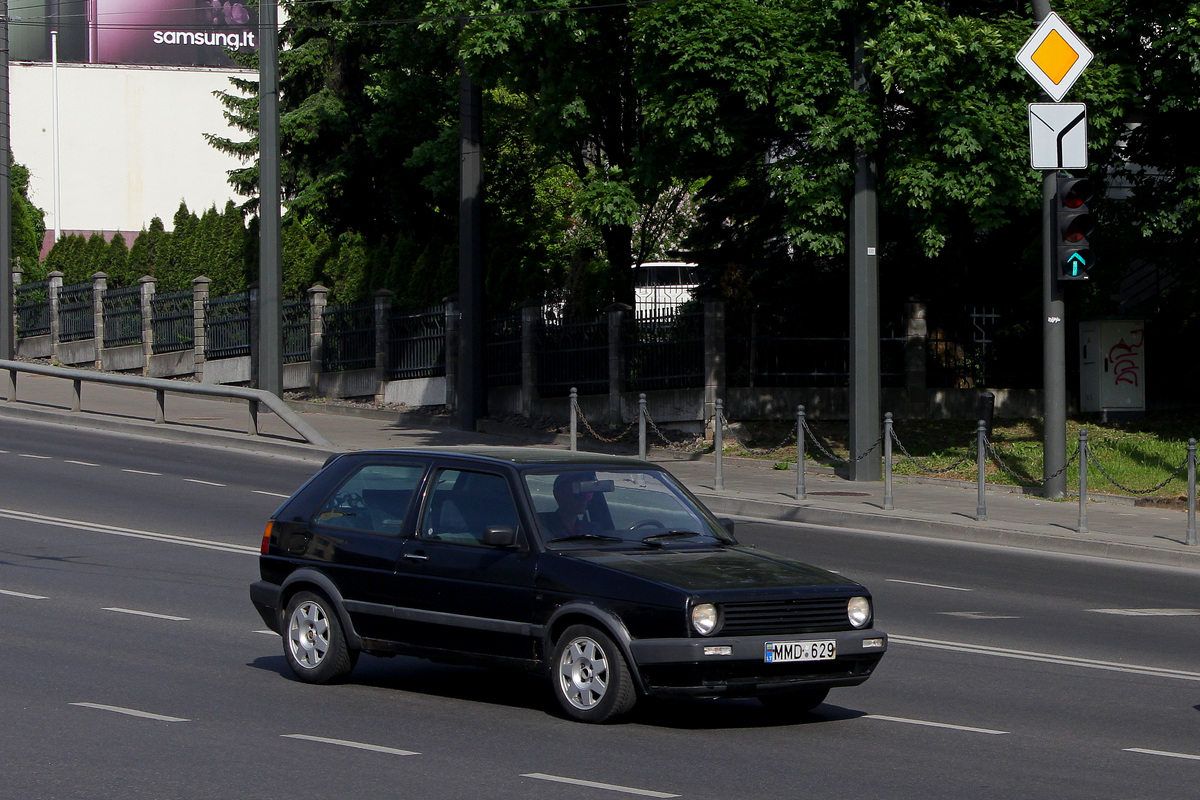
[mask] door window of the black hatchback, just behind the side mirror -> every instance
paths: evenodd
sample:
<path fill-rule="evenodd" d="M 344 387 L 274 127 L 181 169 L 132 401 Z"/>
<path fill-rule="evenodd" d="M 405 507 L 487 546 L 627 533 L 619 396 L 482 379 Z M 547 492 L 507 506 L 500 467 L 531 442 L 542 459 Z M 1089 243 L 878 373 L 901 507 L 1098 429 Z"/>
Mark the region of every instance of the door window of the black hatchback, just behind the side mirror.
<path fill-rule="evenodd" d="M 421 537 L 482 547 L 488 528 L 516 530 L 517 524 L 517 506 L 503 475 L 443 469 L 428 493 Z"/>

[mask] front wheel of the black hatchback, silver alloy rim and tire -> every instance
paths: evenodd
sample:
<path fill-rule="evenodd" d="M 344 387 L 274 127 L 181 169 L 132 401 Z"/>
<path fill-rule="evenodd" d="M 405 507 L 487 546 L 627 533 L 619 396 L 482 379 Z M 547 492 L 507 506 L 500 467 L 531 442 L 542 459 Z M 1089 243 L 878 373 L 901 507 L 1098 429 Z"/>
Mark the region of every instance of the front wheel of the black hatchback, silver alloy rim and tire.
<path fill-rule="evenodd" d="M 551 662 L 554 697 L 581 722 L 610 722 L 628 714 L 637 690 L 617 644 L 590 625 L 572 625 L 554 645 Z"/>

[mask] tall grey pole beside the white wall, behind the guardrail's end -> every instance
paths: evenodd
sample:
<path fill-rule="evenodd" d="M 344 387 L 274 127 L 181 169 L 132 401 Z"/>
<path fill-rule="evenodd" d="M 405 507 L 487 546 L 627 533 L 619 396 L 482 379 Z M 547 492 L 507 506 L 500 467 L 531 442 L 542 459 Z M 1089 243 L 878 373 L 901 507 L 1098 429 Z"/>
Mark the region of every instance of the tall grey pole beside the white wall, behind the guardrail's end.
<path fill-rule="evenodd" d="M 276 0 L 258 4 L 258 389 L 283 396 L 280 47 Z"/>

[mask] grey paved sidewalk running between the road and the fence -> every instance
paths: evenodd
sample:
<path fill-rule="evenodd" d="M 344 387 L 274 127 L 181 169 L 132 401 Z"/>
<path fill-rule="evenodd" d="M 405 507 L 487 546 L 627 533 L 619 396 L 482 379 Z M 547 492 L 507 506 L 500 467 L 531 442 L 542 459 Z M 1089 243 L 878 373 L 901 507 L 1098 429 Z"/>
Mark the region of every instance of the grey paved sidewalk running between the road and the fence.
<path fill-rule="evenodd" d="M 239 401 L 169 395 L 166 423 L 154 422 L 151 391 L 84 384 L 82 410 L 72 413 L 70 380 L 22 374 L 17 402 L 0 401 L 0 420 L 25 419 L 90 429 L 108 429 L 157 439 L 323 462 L 330 452 L 446 445 L 540 445 L 568 447 L 564 435 L 484 421 L 479 432 L 454 427 L 452 419 L 373 407 L 316 402 L 290 405 L 324 434 L 336 450 L 308 445 L 274 414 L 260 413 L 262 435 L 246 434 L 246 404 Z M 594 440 L 581 437 L 580 447 Z M 635 453 L 636 455 L 636 451 Z M 840 525 L 901 535 L 949 539 L 1200 569 L 1200 547 L 1188 546 L 1187 513 L 1177 509 L 1138 507 L 1126 498 L 1104 498 L 1087 507 L 1086 533 L 1079 533 L 1079 501 L 1043 500 L 1012 487 L 989 487 L 986 519 L 977 519 L 974 483 L 895 477 L 895 509 L 883 510 L 882 482 L 853 482 L 810 464 L 806 499 L 796 499 L 797 474 L 776 470 L 769 461 L 724 459 L 724 489 L 715 488 L 712 455 L 652 450 L 649 461 L 679 477 L 719 516 Z"/>

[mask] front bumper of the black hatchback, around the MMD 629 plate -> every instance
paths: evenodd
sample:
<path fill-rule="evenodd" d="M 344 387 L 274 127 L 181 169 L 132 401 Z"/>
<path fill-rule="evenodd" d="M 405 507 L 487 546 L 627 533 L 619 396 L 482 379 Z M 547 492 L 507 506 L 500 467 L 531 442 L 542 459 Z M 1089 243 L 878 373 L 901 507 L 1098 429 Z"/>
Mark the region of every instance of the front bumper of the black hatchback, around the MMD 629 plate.
<path fill-rule="evenodd" d="M 768 642 L 838 643 L 838 657 L 826 661 L 769 663 Z M 706 655 L 728 648 L 728 655 Z M 635 639 L 630 650 L 647 694 L 754 697 L 806 686 L 857 686 L 875 670 L 888 648 L 882 631 L 784 633 L 695 639 Z"/>

